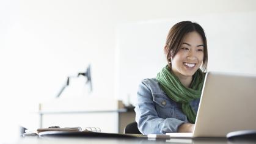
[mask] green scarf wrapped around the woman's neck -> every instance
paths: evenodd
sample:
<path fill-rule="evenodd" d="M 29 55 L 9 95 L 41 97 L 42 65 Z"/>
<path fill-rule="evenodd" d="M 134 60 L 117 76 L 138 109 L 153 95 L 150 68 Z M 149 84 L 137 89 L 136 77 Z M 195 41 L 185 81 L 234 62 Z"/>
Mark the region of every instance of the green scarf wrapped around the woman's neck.
<path fill-rule="evenodd" d="M 202 71 L 198 69 L 193 75 L 191 88 L 187 88 L 181 84 L 178 77 L 170 71 L 168 66 L 164 67 L 156 76 L 156 79 L 167 96 L 173 101 L 181 103 L 182 111 L 191 123 L 195 123 L 196 121 L 196 112 L 192 109 L 189 102 L 193 99 L 200 98 L 204 78 L 205 73 L 202 73 Z"/>

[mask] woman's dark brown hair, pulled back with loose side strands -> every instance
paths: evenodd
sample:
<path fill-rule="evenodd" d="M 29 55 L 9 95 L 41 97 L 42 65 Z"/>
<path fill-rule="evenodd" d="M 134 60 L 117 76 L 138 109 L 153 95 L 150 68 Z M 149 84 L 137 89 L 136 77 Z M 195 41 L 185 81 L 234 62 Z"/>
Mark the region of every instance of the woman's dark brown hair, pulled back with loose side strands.
<path fill-rule="evenodd" d="M 205 37 L 205 32 L 203 28 L 197 24 L 192 23 L 191 21 L 181 21 L 180 23 L 175 24 L 169 31 L 169 34 L 166 38 L 166 47 L 164 52 L 166 53 L 166 58 L 169 68 L 172 67 L 171 58 L 174 57 L 178 49 L 180 49 L 183 38 L 189 32 L 197 32 L 201 35 L 203 39 L 203 65 L 202 71 L 207 70 L 207 61 L 208 61 L 208 52 L 207 52 L 207 38 Z"/>

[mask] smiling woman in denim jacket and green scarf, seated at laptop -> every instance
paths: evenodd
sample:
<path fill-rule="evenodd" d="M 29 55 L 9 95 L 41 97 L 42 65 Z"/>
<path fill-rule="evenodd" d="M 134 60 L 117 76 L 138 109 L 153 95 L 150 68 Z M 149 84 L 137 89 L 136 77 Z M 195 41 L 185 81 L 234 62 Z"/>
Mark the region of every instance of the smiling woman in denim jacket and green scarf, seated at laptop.
<path fill-rule="evenodd" d="M 137 92 L 136 122 L 142 134 L 192 132 L 207 68 L 207 40 L 191 21 L 175 24 L 164 46 L 168 65 L 144 79 Z"/>

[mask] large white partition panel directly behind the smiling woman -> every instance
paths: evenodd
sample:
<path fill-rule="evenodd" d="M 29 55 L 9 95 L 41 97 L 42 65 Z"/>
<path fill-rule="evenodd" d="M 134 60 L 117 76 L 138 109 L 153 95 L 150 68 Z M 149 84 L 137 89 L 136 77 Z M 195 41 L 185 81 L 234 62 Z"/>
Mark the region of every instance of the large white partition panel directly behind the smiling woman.
<path fill-rule="evenodd" d="M 136 103 L 142 79 L 166 65 L 167 33 L 178 21 L 199 23 L 208 40 L 208 71 L 256 74 L 256 12 L 218 13 L 121 24 L 116 32 L 115 95 Z M 130 99 L 130 100 L 129 100 Z"/>

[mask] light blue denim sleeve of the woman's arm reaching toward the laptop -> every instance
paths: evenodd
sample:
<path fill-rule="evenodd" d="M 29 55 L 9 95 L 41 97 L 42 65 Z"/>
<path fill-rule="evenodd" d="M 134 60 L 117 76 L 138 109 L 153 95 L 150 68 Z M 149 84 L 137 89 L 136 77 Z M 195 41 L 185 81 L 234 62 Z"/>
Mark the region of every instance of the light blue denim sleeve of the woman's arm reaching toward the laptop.
<path fill-rule="evenodd" d="M 186 123 L 177 118 L 159 118 L 153 102 L 152 92 L 143 81 L 137 92 L 135 112 L 139 131 L 144 135 L 177 132 L 178 126 Z"/>

